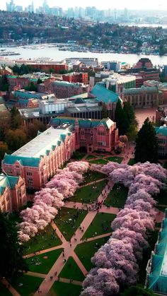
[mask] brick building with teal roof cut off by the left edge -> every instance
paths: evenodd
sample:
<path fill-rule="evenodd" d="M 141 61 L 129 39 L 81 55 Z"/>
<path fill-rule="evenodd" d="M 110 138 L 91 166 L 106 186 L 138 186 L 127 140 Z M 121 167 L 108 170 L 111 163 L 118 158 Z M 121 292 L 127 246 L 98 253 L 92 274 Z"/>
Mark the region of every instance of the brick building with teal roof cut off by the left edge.
<path fill-rule="evenodd" d="M 26 203 L 24 179 L 0 174 L 0 212 L 19 211 Z"/>

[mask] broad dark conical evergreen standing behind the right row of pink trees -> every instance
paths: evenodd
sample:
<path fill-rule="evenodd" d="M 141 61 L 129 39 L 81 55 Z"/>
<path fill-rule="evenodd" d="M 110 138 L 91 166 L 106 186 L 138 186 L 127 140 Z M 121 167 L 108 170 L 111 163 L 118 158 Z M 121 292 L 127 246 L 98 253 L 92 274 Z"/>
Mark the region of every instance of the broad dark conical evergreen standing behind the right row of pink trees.
<path fill-rule="evenodd" d="M 137 134 L 134 159 L 136 162 L 157 162 L 158 160 L 158 140 L 149 118 L 145 120 Z"/>

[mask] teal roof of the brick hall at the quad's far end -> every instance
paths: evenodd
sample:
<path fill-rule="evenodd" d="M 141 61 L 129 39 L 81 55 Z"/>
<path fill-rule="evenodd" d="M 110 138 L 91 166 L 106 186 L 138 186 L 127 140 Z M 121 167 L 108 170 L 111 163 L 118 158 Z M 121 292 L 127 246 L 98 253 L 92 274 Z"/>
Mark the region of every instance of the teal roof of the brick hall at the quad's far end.
<path fill-rule="evenodd" d="M 97 126 L 99 126 L 100 124 L 103 124 L 105 127 L 107 127 L 108 129 L 110 128 L 110 126 L 112 126 L 114 124 L 114 122 L 109 119 L 81 119 L 81 118 L 71 118 L 71 117 L 56 117 L 56 118 L 52 118 L 50 121 L 50 125 L 51 126 L 60 126 L 62 124 L 71 124 L 74 125 L 75 121 L 78 120 L 79 122 L 79 127 L 83 127 L 83 128 L 87 128 L 87 129 L 91 129 L 91 128 L 95 128 Z"/>

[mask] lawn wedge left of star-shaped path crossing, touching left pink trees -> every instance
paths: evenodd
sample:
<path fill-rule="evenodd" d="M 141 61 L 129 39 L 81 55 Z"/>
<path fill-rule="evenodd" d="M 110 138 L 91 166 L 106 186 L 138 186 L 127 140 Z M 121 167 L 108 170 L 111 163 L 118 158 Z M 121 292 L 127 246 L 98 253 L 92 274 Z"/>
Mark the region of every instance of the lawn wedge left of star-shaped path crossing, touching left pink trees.
<path fill-rule="evenodd" d="M 25 242 L 24 254 L 31 254 L 42 249 L 49 249 L 62 244 L 62 241 L 57 236 L 51 225 L 47 225 L 44 230 L 38 232 L 35 237 L 32 237 L 28 242 Z"/>

